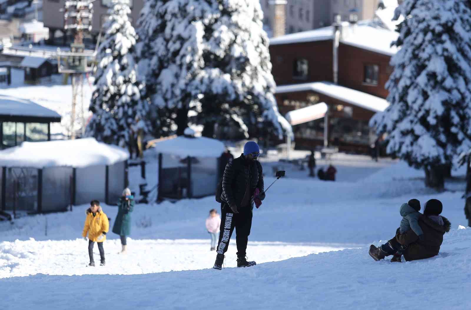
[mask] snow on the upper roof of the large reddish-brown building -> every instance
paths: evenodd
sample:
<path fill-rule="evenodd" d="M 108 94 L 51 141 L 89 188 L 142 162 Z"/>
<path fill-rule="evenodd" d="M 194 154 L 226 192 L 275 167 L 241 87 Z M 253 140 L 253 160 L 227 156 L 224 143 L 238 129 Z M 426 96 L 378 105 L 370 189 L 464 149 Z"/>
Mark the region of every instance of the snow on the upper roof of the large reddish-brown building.
<path fill-rule="evenodd" d="M 341 43 L 388 56 L 397 53 L 398 48 L 391 47 L 391 42 L 398 39 L 398 32 L 384 29 L 372 21 L 362 21 L 356 26 L 347 24 L 342 23 Z M 270 45 L 325 40 L 333 40 L 333 26 L 271 38 Z"/>

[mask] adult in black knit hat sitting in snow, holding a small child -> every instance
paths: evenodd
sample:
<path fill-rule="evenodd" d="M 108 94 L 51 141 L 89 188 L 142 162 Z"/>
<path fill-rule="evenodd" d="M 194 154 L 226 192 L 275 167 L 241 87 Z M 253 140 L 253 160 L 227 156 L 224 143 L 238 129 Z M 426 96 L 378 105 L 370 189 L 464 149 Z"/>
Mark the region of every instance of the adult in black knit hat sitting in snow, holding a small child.
<path fill-rule="evenodd" d="M 451 223 L 445 216 L 441 216 L 443 205 L 438 199 L 430 199 L 425 203 L 423 215 L 419 215 L 418 224 L 423 231 L 422 238 L 410 229 L 405 233 L 397 230 L 396 236 L 382 246 L 370 246 L 370 253 L 374 260 L 378 261 L 385 256 L 394 254 L 400 248 L 405 246 L 403 250 L 406 261 L 414 261 L 433 257 L 439 254 L 440 246 L 443 242 L 443 235 L 450 231 Z M 370 254 L 371 255 L 371 254 Z M 400 257 L 399 257 L 400 259 Z M 400 260 L 393 260 L 400 262 Z"/>

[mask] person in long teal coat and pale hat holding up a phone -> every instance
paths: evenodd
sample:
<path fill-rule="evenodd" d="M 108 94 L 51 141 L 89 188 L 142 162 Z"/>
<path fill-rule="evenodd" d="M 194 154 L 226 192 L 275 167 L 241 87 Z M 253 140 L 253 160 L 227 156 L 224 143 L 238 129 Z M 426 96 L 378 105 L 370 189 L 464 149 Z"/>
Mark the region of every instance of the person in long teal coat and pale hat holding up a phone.
<path fill-rule="evenodd" d="M 118 215 L 113 225 L 113 232 L 120 235 L 121 238 L 121 253 L 126 253 L 126 236 L 131 232 L 131 215 L 134 210 L 134 197 L 131 195 L 131 190 L 125 188 L 122 191 L 122 197 L 118 202 Z"/>

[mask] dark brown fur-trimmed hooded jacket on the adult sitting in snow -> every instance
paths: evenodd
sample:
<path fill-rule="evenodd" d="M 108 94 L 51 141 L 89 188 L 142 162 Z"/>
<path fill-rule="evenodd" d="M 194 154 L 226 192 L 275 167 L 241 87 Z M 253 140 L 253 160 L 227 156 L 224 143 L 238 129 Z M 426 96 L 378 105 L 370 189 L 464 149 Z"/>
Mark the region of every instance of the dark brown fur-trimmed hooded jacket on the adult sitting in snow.
<path fill-rule="evenodd" d="M 396 240 L 407 246 L 404 252 L 406 261 L 429 258 L 439 254 L 440 246 L 443 242 L 443 235 L 450 231 L 451 223 L 445 216 L 442 216 L 444 225 L 432 221 L 427 215 L 419 217 L 419 225 L 423 231 L 423 240 L 420 241 L 413 230 L 404 234 L 397 233 Z"/>

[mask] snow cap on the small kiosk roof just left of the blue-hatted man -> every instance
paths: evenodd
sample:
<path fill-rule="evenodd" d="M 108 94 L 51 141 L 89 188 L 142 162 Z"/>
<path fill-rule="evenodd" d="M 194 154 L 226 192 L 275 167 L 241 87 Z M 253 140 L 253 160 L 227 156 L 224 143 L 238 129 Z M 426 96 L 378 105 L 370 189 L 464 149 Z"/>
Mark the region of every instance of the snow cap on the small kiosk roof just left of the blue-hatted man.
<path fill-rule="evenodd" d="M 224 152 L 224 143 L 206 137 L 187 138 L 178 136 L 154 144 L 157 153 L 172 154 L 181 157 L 219 157 Z"/>

